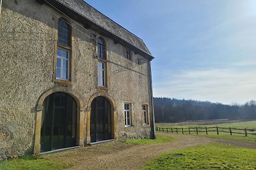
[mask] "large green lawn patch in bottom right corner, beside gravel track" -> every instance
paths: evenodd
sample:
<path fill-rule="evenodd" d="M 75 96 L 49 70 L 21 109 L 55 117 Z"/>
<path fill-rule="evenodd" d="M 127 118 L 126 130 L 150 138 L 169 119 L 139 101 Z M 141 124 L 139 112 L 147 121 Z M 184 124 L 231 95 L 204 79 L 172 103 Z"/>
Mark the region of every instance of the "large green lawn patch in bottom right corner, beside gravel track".
<path fill-rule="evenodd" d="M 255 158 L 253 149 L 209 144 L 164 153 L 142 169 L 256 169 Z"/>

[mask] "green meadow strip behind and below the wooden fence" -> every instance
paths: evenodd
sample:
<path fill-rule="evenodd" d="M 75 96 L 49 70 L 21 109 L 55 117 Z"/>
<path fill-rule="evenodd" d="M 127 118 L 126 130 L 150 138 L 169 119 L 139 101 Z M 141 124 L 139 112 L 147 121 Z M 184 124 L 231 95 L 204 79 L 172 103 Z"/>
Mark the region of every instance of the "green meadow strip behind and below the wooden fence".
<path fill-rule="evenodd" d="M 236 122 L 231 124 L 214 124 L 214 125 L 175 125 L 175 124 L 157 124 L 158 127 L 168 127 L 168 128 L 188 128 L 188 127 L 231 127 L 231 128 L 247 128 L 247 129 L 256 129 L 256 121 L 250 121 L 250 122 Z M 204 130 L 204 129 L 202 129 Z M 174 130 L 173 130 L 174 131 Z M 180 130 L 179 130 L 180 131 Z M 184 130 L 185 131 L 185 130 Z M 225 130 L 228 131 L 228 130 Z M 236 130 L 234 130 L 236 131 Z M 237 131 L 237 132 L 244 132 L 244 131 Z M 248 131 L 249 133 L 249 131 Z M 256 132 L 253 132 L 256 133 Z M 182 132 L 179 132 L 179 134 L 182 134 Z M 189 134 L 188 129 L 186 129 L 186 132 L 184 134 Z M 196 132 L 191 132 L 191 134 L 196 135 Z M 208 132 L 208 135 L 205 132 L 198 132 L 198 136 L 205 136 L 209 138 L 218 138 L 218 139 L 229 139 L 229 140 L 235 140 L 235 141 L 243 141 L 247 143 L 256 143 L 256 135 L 250 135 L 248 134 L 247 137 L 244 136 L 244 134 L 232 134 L 232 136 L 228 132 L 220 132 L 219 135 L 217 135 L 216 132 Z"/>

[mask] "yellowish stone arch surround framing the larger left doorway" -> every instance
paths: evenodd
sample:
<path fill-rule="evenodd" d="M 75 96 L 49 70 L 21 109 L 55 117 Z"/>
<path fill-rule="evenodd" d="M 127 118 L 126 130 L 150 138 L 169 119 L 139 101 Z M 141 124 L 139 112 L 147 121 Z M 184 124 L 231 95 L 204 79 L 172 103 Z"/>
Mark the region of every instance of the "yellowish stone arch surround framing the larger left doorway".
<path fill-rule="evenodd" d="M 40 153 L 40 133 L 42 126 L 42 111 L 44 110 L 44 100 L 47 96 L 53 94 L 54 92 L 64 92 L 72 96 L 77 103 L 77 145 L 83 145 L 84 136 L 83 136 L 83 125 L 84 125 L 84 104 L 81 96 L 72 89 L 67 87 L 54 87 L 47 90 L 39 97 L 36 103 L 36 124 L 35 124 L 35 145 L 34 145 L 34 154 Z"/>

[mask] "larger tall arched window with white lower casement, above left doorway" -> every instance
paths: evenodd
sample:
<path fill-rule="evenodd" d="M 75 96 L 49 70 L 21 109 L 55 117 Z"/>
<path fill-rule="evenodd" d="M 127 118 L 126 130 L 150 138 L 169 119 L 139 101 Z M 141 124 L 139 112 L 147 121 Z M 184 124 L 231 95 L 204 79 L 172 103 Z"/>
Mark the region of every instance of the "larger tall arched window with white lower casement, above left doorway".
<path fill-rule="evenodd" d="M 62 18 L 58 21 L 56 79 L 70 80 L 70 27 Z"/>

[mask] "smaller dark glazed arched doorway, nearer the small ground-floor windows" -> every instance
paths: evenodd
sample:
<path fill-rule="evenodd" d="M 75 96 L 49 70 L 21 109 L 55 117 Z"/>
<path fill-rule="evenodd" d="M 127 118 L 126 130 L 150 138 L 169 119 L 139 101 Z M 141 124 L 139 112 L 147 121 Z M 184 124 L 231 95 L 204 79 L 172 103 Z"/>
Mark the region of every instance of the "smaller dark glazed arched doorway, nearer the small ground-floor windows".
<path fill-rule="evenodd" d="M 108 99 L 98 96 L 92 101 L 90 120 L 91 142 L 113 139 L 113 114 Z"/>

